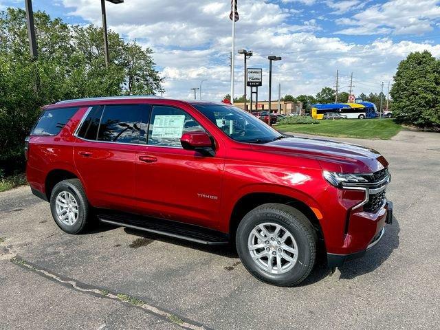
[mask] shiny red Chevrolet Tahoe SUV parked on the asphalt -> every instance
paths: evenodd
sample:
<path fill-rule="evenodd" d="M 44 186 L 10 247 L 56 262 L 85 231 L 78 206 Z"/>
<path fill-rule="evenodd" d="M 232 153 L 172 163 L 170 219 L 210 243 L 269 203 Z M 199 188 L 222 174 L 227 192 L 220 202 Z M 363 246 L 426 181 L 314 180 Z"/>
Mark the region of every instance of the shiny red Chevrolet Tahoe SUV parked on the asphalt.
<path fill-rule="evenodd" d="M 259 280 L 296 285 L 318 250 L 361 256 L 391 223 L 376 151 L 285 137 L 224 103 L 118 97 L 43 109 L 27 139 L 34 195 L 78 234 L 99 219 L 203 244 L 234 243 Z"/>

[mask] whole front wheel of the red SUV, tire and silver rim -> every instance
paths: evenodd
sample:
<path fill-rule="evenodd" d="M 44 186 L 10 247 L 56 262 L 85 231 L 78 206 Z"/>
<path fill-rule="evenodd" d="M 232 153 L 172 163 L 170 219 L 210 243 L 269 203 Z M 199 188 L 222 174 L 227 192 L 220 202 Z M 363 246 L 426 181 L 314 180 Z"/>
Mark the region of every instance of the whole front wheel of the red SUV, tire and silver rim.
<path fill-rule="evenodd" d="M 316 232 L 296 208 L 267 203 L 245 215 L 236 232 L 236 248 L 254 277 L 289 287 L 304 281 L 314 267 Z"/>

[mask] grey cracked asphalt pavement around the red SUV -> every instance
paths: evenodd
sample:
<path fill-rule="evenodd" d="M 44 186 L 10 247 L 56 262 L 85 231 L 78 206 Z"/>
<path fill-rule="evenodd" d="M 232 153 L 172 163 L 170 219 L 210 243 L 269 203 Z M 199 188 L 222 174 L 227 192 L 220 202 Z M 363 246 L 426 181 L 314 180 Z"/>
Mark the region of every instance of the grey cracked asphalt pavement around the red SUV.
<path fill-rule="evenodd" d="M 439 329 L 440 134 L 332 140 L 390 162 L 395 217 L 363 259 L 273 287 L 225 248 L 107 225 L 65 234 L 23 186 L 0 193 L 0 329 Z"/>

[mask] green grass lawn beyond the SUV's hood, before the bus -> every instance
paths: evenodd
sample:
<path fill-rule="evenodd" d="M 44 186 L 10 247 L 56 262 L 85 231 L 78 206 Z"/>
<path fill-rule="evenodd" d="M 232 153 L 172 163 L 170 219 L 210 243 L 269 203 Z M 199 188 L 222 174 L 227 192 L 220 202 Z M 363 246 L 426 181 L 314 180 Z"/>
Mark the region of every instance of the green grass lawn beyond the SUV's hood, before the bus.
<path fill-rule="evenodd" d="M 281 132 L 389 140 L 399 133 L 401 125 L 393 119 L 342 119 L 320 120 L 319 124 L 280 124 L 274 126 L 274 129 Z"/>

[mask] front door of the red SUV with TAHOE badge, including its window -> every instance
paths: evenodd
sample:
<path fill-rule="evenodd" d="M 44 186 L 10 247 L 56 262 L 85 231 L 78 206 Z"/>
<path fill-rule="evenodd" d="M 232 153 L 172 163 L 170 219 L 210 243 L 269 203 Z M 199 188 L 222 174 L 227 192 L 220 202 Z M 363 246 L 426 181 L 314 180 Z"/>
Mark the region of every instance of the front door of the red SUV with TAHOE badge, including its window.
<path fill-rule="evenodd" d="M 180 137 L 188 131 L 205 129 L 184 109 L 153 106 L 148 142 L 136 157 L 137 199 L 144 214 L 215 228 L 224 157 L 184 150 Z"/>

